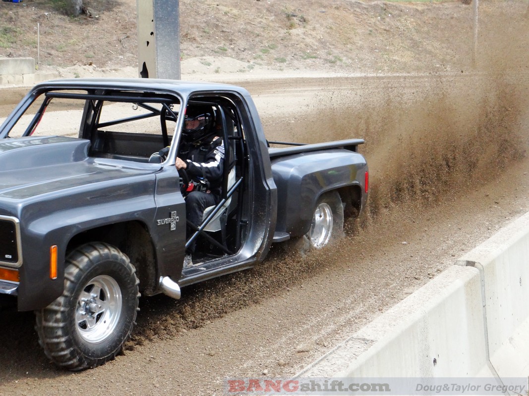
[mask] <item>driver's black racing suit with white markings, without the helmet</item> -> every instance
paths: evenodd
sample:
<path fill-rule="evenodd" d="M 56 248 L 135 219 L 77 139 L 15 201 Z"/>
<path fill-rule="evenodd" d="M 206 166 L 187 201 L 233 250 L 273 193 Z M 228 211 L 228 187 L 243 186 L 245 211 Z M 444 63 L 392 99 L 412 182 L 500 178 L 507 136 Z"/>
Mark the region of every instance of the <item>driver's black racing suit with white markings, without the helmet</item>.
<path fill-rule="evenodd" d="M 186 196 L 186 216 L 196 227 L 202 223 L 204 210 L 221 200 L 222 175 L 224 171 L 224 144 L 214 135 L 200 142 L 182 142 L 178 156 L 187 162 L 185 169 L 190 179 Z M 192 183 L 192 184 L 191 184 Z M 188 228 L 188 238 L 194 232 Z M 191 244 L 188 253 L 194 253 Z"/>

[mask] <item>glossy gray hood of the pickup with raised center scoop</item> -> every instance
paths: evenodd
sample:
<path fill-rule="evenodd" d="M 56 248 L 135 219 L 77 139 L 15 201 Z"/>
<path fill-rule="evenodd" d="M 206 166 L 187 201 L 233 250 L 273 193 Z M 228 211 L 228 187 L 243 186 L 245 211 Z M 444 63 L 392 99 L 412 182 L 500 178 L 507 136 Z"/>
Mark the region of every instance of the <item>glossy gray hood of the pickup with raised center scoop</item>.
<path fill-rule="evenodd" d="M 24 200 L 155 170 L 151 164 L 88 157 L 89 145 L 61 136 L 0 140 L 0 198 Z"/>

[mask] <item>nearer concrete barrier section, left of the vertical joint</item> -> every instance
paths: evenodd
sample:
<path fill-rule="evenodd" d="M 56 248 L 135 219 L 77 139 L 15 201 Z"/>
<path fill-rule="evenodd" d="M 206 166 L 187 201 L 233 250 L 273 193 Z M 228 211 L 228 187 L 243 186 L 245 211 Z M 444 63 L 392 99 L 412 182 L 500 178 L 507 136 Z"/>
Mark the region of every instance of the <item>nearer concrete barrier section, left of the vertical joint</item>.
<path fill-rule="evenodd" d="M 475 268 L 449 268 L 297 376 L 492 376 L 480 282 Z"/>

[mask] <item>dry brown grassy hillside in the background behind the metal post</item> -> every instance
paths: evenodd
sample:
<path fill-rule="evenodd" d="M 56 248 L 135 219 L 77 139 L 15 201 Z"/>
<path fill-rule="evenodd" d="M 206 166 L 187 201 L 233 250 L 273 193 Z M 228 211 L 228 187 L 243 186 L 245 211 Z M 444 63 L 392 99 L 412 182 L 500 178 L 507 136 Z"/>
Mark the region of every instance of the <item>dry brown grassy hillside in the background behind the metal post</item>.
<path fill-rule="evenodd" d="M 73 65 L 137 67 L 135 0 L 85 0 L 89 15 L 76 18 L 64 15 L 51 3 L 0 2 L 0 56 L 31 56 L 40 60 L 41 70 Z M 437 73 L 472 67 L 473 5 L 462 2 L 179 3 L 181 59 L 198 58 L 190 72 L 266 68 Z M 505 46 L 524 48 L 526 33 L 517 30 L 526 25 L 526 8 L 522 1 L 480 3 L 478 58 L 486 60 L 482 63 L 489 63 L 489 54 L 496 56 Z M 511 36 L 516 39 L 509 39 Z M 236 61 L 216 64 L 215 59 L 220 58 Z M 509 61 L 505 56 L 499 58 Z"/>

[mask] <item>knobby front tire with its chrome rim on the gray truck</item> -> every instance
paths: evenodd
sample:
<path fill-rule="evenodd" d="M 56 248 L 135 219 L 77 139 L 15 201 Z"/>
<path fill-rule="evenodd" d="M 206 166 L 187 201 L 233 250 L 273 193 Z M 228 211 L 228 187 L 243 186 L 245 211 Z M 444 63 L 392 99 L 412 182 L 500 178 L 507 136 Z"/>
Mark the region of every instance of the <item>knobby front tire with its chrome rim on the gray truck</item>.
<path fill-rule="evenodd" d="M 35 312 L 39 343 L 60 367 L 77 371 L 114 359 L 138 311 L 138 278 L 129 258 L 105 243 L 69 254 L 62 296 Z"/>

